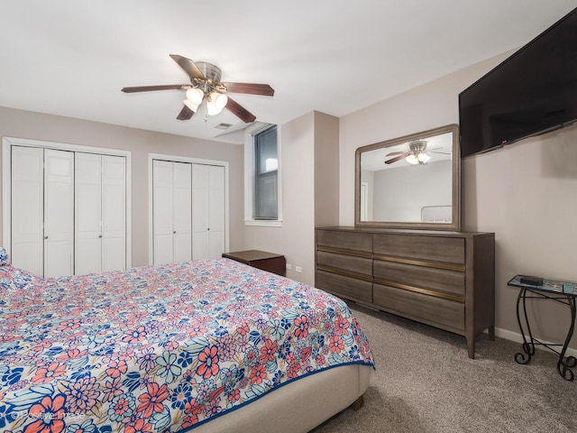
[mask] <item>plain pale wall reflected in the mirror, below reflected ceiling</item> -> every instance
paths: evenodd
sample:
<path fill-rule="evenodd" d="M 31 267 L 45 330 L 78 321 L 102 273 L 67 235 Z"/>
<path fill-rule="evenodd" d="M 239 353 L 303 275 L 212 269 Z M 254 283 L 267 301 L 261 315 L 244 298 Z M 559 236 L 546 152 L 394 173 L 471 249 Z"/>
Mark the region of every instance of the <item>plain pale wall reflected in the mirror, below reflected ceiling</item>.
<path fill-rule="evenodd" d="M 451 160 L 372 173 L 372 221 L 420 223 L 422 207 L 453 202 Z"/>

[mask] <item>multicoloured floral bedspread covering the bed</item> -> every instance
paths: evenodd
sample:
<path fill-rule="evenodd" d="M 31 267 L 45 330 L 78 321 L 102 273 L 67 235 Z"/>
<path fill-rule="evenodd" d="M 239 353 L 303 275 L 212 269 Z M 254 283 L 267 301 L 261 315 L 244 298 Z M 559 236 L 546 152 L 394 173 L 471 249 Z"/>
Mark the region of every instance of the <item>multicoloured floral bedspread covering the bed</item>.
<path fill-rule="evenodd" d="M 0 431 L 179 431 L 343 364 L 343 301 L 227 259 L 39 279 L 0 302 Z"/>

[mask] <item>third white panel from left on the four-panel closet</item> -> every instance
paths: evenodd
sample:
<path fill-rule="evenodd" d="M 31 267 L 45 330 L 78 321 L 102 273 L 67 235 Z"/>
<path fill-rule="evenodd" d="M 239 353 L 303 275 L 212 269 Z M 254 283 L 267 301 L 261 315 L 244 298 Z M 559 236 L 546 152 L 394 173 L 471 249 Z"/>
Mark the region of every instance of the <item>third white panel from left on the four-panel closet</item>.
<path fill-rule="evenodd" d="M 100 215 L 102 172 L 100 155 L 76 153 L 76 262 L 75 273 L 100 272 L 102 239 Z"/>

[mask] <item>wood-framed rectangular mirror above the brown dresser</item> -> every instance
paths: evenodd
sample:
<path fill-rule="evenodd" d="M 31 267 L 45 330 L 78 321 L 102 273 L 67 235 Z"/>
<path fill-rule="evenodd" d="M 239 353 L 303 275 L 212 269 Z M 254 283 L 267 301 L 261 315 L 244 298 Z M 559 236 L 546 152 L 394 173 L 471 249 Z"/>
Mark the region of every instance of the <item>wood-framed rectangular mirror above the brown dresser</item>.
<path fill-rule="evenodd" d="M 459 127 L 362 146 L 355 154 L 355 226 L 461 228 Z"/>

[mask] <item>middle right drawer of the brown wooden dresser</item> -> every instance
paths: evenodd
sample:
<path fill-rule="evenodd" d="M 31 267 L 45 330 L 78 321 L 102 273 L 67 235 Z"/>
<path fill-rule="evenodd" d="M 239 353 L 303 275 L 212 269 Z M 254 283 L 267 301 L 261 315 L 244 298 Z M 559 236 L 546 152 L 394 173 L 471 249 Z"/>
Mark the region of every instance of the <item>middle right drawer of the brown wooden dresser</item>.
<path fill-rule="evenodd" d="M 465 297 L 464 272 L 380 260 L 374 261 L 373 272 L 375 281 L 394 281 L 461 299 Z"/>

